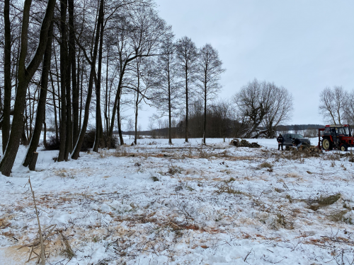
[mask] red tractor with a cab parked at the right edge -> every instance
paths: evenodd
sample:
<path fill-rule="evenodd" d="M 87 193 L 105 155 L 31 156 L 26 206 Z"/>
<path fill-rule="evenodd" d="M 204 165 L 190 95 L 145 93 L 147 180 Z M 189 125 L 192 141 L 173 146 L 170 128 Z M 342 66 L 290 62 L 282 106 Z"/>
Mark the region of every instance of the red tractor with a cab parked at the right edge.
<path fill-rule="evenodd" d="M 322 143 L 324 150 L 338 149 L 340 151 L 348 151 L 348 147 L 354 146 L 354 137 L 350 132 L 349 124 L 344 125 L 326 125 L 326 128 L 319 129 L 319 147 Z M 320 131 L 322 134 L 322 140 Z"/>

